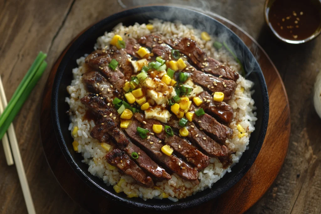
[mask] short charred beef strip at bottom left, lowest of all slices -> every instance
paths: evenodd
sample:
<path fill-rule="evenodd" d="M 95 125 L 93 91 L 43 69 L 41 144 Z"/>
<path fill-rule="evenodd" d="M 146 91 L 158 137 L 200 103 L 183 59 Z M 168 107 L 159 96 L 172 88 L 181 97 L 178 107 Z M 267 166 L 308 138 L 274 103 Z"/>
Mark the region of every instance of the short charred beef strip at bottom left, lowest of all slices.
<path fill-rule="evenodd" d="M 130 175 L 140 184 L 146 187 L 154 186 L 152 178 L 146 175 L 146 173 L 140 167 L 138 167 L 137 164 L 131 160 L 124 151 L 112 149 L 107 153 L 106 159 L 110 165 L 117 167 L 124 174 Z"/>

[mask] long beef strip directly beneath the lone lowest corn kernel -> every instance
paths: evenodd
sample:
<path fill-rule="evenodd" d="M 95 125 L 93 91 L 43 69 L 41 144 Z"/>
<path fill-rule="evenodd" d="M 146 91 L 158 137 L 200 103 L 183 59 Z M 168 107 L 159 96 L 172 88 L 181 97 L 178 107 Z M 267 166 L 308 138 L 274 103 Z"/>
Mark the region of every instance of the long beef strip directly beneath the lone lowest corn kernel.
<path fill-rule="evenodd" d="M 180 160 L 175 155 L 167 156 L 162 151 L 162 143 L 159 143 L 159 139 L 153 135 L 149 135 L 149 139 L 143 139 L 136 133 L 137 126 L 140 126 L 138 121 L 133 122 L 125 129 L 126 133 L 134 141 L 137 141 L 147 150 L 149 150 L 155 158 L 164 163 L 170 170 L 178 174 L 180 177 L 186 180 L 196 180 L 198 178 L 198 172 L 196 168 L 190 167 L 187 163 Z M 152 143 L 151 143 L 152 142 Z"/>

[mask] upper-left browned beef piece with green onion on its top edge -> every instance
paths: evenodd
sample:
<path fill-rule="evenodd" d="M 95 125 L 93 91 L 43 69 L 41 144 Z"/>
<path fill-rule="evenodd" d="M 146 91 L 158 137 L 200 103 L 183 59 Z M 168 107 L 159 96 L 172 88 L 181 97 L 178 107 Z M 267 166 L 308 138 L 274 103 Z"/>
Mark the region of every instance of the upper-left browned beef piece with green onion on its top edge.
<path fill-rule="evenodd" d="M 112 50 L 108 50 L 112 51 Z M 112 53 L 107 53 L 106 50 L 96 50 L 85 58 L 85 63 L 90 67 L 103 73 L 108 81 L 115 87 L 119 92 L 122 91 L 122 86 L 125 83 L 124 74 L 119 70 L 117 66 L 115 70 L 108 67 L 108 64 L 113 59 Z"/>

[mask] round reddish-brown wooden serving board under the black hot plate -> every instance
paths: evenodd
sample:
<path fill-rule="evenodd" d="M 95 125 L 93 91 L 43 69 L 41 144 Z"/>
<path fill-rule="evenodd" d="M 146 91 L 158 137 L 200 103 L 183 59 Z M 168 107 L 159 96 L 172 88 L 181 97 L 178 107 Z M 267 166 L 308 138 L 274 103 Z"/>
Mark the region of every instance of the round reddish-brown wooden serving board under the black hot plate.
<path fill-rule="evenodd" d="M 245 212 L 256 203 L 271 186 L 282 167 L 288 149 L 290 137 L 290 108 L 280 74 L 264 50 L 246 32 L 221 16 L 213 13 L 209 13 L 208 15 L 221 21 L 234 31 L 245 42 L 247 47 L 250 48 L 252 53 L 255 56 L 259 56 L 258 62 L 264 73 L 269 94 L 269 124 L 265 141 L 253 166 L 236 185 L 219 198 L 189 208 L 188 210 L 175 210 L 169 211 L 168 213 L 234 214 Z M 122 211 L 137 214 L 144 213 L 144 211 L 140 209 L 115 206 L 114 201 L 108 201 L 100 194 L 94 192 L 94 190 L 76 175 L 60 150 L 53 132 L 50 115 L 51 90 L 56 70 L 68 47 L 52 67 L 42 101 L 40 117 L 41 138 L 49 166 L 65 192 L 90 213 L 121 213 Z"/>

